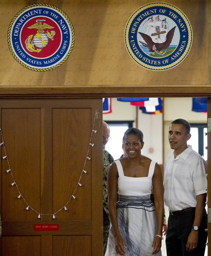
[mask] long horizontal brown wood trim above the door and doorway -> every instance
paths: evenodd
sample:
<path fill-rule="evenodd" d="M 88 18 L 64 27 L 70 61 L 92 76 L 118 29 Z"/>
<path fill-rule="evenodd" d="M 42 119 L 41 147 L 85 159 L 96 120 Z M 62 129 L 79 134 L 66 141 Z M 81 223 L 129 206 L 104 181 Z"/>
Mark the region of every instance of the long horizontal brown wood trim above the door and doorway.
<path fill-rule="evenodd" d="M 211 85 L 0 87 L 0 98 L 210 97 Z"/>

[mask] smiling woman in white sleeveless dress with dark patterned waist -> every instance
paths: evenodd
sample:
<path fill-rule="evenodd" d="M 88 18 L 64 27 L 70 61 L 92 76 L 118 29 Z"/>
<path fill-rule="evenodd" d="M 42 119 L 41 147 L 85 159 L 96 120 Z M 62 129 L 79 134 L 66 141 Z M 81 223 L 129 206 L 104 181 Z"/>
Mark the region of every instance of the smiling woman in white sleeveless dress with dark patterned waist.
<path fill-rule="evenodd" d="M 141 154 L 143 146 L 143 133 L 129 128 L 124 134 L 127 156 L 109 167 L 107 189 L 111 228 L 105 256 L 161 256 L 162 172 L 158 163 Z M 150 199 L 152 187 L 155 204 Z"/>

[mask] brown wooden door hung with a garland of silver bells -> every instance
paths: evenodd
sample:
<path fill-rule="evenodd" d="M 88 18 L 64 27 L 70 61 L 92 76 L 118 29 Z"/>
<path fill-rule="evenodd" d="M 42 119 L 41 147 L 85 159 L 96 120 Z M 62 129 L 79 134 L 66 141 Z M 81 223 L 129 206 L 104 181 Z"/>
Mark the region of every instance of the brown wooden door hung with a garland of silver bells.
<path fill-rule="evenodd" d="M 0 126 L 0 255 L 102 255 L 102 99 L 0 100 Z"/>

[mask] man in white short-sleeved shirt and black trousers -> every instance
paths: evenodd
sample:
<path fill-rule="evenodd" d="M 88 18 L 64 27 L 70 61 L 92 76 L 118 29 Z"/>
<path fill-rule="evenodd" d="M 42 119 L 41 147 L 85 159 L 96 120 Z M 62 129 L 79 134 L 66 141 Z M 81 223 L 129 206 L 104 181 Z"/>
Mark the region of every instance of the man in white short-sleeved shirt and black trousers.
<path fill-rule="evenodd" d="M 164 169 L 164 200 L 169 207 L 167 256 L 203 256 L 207 241 L 207 164 L 187 145 L 190 124 L 176 119 L 169 127 L 171 152 Z"/>

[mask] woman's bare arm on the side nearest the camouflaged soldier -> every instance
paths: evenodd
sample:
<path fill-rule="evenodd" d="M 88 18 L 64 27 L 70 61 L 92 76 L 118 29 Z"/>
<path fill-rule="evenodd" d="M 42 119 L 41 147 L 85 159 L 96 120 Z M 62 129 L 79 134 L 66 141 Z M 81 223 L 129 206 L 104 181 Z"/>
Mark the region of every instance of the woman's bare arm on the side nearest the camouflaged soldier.
<path fill-rule="evenodd" d="M 118 170 L 116 163 L 112 163 L 108 170 L 107 176 L 107 190 L 108 190 L 108 208 L 109 217 L 111 225 L 113 227 L 115 242 L 116 242 L 116 254 L 125 255 L 126 248 L 124 239 L 120 235 L 117 223 L 117 209 L 116 209 L 116 199 L 117 199 L 117 180 L 118 180 Z"/>

